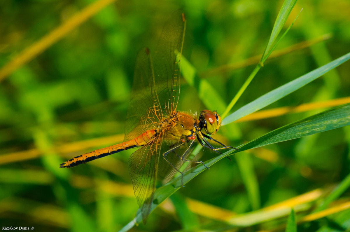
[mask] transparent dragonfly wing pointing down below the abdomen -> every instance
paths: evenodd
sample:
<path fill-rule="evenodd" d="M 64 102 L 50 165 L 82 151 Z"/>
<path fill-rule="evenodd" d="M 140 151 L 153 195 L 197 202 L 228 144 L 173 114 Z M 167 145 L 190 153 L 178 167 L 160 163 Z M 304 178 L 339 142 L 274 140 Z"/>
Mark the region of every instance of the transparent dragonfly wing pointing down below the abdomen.
<path fill-rule="evenodd" d="M 161 145 L 162 136 L 160 134 L 152 142 L 132 153 L 128 161 L 131 181 L 144 223 L 151 211 Z"/>

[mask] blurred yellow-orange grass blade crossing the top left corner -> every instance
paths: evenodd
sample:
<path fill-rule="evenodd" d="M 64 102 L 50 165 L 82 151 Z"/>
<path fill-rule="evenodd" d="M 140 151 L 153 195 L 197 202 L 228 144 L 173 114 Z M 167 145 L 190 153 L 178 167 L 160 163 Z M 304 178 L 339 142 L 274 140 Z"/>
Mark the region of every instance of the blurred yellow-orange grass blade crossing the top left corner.
<path fill-rule="evenodd" d="M 66 20 L 61 26 L 58 26 L 56 29 L 52 30 L 50 33 L 42 37 L 39 41 L 23 50 L 23 52 L 21 52 L 12 61 L 8 62 L 0 69 L 0 82 L 5 79 L 6 76 L 13 73 L 13 71 L 21 67 L 23 64 L 34 59 L 34 57 L 49 48 L 52 44 L 62 39 L 72 29 L 76 28 L 91 18 L 93 15 L 98 13 L 102 8 L 114 1 L 116 0 L 98 0 L 91 3 L 82 9 L 82 11 Z"/>

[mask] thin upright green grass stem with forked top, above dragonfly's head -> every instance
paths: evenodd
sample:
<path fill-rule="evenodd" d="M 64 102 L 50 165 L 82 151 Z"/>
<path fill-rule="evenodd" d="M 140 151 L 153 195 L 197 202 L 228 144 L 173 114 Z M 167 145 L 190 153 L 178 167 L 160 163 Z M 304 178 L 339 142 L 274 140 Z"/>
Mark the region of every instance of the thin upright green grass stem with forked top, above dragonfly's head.
<path fill-rule="evenodd" d="M 233 106 L 236 104 L 236 102 L 238 101 L 238 99 L 240 98 L 240 96 L 243 94 L 243 92 L 246 90 L 246 88 L 248 87 L 248 85 L 250 84 L 250 82 L 252 82 L 253 78 L 255 77 L 255 75 L 258 73 L 258 71 L 260 70 L 260 68 L 264 65 L 264 62 L 266 61 L 266 59 L 268 58 L 268 56 L 273 52 L 273 50 L 276 48 L 276 46 L 278 45 L 278 43 L 281 41 L 282 37 L 284 37 L 288 30 L 293 26 L 293 23 L 295 22 L 295 20 L 293 21 L 292 25 L 290 25 L 288 27 L 288 29 L 286 30 L 286 32 L 282 35 L 282 37 L 280 38 L 280 40 L 275 44 L 275 46 L 273 46 L 272 49 L 270 49 L 270 47 L 272 46 L 272 44 L 274 43 L 274 41 L 276 40 L 276 37 L 278 36 L 278 34 L 280 33 L 283 25 L 286 23 L 288 16 L 290 14 L 290 11 L 292 11 L 294 5 L 295 5 L 296 0 L 285 0 L 283 2 L 283 5 L 280 9 L 280 12 L 277 16 L 277 19 L 275 21 L 275 25 L 273 26 L 272 29 L 272 33 L 270 36 L 270 39 L 268 41 L 268 44 L 265 48 L 264 53 L 261 56 L 260 62 L 258 63 L 258 65 L 254 68 L 254 70 L 252 71 L 252 73 L 248 76 L 247 80 L 244 82 L 244 84 L 242 85 L 242 87 L 238 90 L 237 94 L 235 95 L 235 97 L 233 97 L 232 101 L 230 102 L 230 104 L 228 105 L 228 107 L 225 109 L 224 113 L 222 114 L 222 118 L 225 118 L 226 115 L 228 115 L 228 113 L 230 112 L 230 110 L 233 108 Z M 300 14 L 300 13 L 299 13 Z M 298 15 L 299 15 L 298 14 Z M 265 56 L 267 51 L 267 55 Z"/>

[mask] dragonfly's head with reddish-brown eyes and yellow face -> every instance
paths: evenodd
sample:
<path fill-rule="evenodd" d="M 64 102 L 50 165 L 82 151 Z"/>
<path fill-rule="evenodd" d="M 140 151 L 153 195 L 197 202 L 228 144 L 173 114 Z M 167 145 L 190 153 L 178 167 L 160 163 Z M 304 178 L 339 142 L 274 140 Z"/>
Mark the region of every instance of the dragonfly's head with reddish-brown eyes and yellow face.
<path fill-rule="evenodd" d="M 202 110 L 199 115 L 200 128 L 204 129 L 205 134 L 214 135 L 219 130 L 221 117 L 217 112 L 210 110 Z"/>

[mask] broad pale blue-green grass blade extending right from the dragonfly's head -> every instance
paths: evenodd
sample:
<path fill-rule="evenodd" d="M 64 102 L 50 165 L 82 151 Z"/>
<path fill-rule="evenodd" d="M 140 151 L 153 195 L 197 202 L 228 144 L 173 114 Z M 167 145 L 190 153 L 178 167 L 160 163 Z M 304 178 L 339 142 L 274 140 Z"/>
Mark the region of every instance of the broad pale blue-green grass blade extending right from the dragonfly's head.
<path fill-rule="evenodd" d="M 344 63 L 345 61 L 348 61 L 350 59 L 350 53 L 345 54 L 338 59 L 329 62 L 328 64 L 325 64 L 324 66 L 321 66 L 320 68 L 317 68 L 313 71 L 310 71 L 309 73 L 302 75 L 301 77 L 290 81 L 283 86 L 280 86 L 267 94 L 262 95 L 261 97 L 255 99 L 254 101 L 246 104 L 245 106 L 241 107 L 237 111 L 233 112 L 229 116 L 223 119 L 222 125 L 228 124 L 231 122 L 234 122 L 238 120 L 239 118 L 242 118 L 248 114 L 251 114 L 255 111 L 258 111 L 267 105 L 281 99 L 282 97 L 287 96 L 290 93 L 293 93 L 295 90 L 300 89 L 304 85 L 310 83 L 311 81 L 317 79 L 318 77 L 322 76 L 323 74 L 327 73 L 329 70 L 334 69 L 335 67 L 339 66 L 340 64 Z"/>

